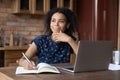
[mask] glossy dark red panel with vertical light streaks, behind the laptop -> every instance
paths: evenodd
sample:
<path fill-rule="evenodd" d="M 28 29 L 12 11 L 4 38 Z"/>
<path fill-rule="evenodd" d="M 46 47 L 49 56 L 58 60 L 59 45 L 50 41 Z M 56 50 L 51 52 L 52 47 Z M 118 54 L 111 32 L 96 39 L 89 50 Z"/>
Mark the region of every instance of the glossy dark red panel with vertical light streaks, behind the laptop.
<path fill-rule="evenodd" d="M 77 1 L 80 40 L 112 41 L 117 49 L 118 0 Z"/>

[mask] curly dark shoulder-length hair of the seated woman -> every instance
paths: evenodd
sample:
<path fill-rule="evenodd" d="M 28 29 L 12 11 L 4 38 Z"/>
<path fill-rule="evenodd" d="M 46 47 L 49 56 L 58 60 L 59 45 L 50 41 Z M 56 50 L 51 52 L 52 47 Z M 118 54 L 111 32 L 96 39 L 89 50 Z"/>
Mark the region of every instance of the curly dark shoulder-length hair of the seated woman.
<path fill-rule="evenodd" d="M 57 12 L 64 14 L 67 18 L 68 23 L 70 23 L 69 28 L 66 29 L 64 33 L 71 36 L 73 39 L 76 39 L 74 36 L 74 34 L 77 30 L 76 17 L 75 17 L 75 14 L 68 8 L 53 8 L 46 14 L 46 17 L 45 17 L 46 31 L 45 31 L 45 33 L 47 33 L 49 35 L 52 34 L 52 31 L 50 29 L 50 22 L 51 22 L 52 15 Z"/>

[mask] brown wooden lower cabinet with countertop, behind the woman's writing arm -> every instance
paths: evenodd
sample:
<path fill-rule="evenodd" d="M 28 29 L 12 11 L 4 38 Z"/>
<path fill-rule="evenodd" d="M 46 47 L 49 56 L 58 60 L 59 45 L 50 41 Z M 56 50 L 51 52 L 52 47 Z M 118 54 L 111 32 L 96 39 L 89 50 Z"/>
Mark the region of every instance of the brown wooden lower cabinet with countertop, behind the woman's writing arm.
<path fill-rule="evenodd" d="M 3 63 L 4 66 L 17 66 L 16 60 L 22 57 L 21 52 L 25 52 L 28 46 L 12 46 L 12 47 L 0 47 L 0 55 L 4 54 L 3 56 Z M 33 57 L 32 60 L 36 61 L 36 57 Z"/>

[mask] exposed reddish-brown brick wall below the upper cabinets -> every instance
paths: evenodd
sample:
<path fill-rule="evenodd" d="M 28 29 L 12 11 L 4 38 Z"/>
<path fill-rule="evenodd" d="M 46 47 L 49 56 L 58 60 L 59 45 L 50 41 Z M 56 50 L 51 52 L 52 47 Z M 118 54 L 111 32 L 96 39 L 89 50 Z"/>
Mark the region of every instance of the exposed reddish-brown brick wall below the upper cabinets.
<path fill-rule="evenodd" d="M 0 32 L 10 36 L 19 34 L 24 37 L 24 44 L 28 44 L 35 36 L 44 31 L 41 15 L 12 14 L 12 0 L 0 0 Z M 3 33 L 4 32 L 4 33 Z"/>

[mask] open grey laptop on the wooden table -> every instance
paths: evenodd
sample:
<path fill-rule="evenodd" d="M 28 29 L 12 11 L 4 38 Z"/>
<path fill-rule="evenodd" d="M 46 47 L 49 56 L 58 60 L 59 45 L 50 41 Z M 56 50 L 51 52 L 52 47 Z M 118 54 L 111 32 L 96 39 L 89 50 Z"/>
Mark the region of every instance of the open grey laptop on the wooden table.
<path fill-rule="evenodd" d="M 112 41 L 79 41 L 74 65 L 59 68 L 70 72 L 107 70 L 112 57 Z"/>

